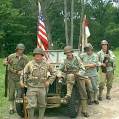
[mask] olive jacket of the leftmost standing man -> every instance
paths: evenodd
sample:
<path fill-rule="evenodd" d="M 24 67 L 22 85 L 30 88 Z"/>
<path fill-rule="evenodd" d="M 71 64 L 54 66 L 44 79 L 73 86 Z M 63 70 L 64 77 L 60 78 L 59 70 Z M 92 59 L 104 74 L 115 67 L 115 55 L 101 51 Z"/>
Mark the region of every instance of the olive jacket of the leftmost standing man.
<path fill-rule="evenodd" d="M 25 65 L 28 63 L 27 56 L 23 55 L 21 57 L 18 57 L 16 53 L 13 53 L 9 55 L 5 60 L 9 62 L 8 63 L 9 79 L 14 79 L 16 81 L 19 81 L 20 75 L 18 74 L 18 71 L 22 71 Z"/>

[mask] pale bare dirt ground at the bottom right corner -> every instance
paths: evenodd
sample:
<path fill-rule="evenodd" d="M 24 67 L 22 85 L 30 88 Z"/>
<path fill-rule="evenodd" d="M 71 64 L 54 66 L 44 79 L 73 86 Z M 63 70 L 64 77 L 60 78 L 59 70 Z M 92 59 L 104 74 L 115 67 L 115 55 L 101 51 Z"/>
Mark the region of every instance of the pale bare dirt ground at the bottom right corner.
<path fill-rule="evenodd" d="M 119 119 L 119 86 L 118 85 L 116 84 L 114 85 L 111 95 L 112 95 L 112 99 L 111 101 L 108 101 L 105 99 L 105 92 L 104 92 L 103 101 L 101 101 L 99 105 L 89 106 L 90 117 L 88 119 Z M 80 119 L 85 119 L 85 118 L 80 117 Z"/>

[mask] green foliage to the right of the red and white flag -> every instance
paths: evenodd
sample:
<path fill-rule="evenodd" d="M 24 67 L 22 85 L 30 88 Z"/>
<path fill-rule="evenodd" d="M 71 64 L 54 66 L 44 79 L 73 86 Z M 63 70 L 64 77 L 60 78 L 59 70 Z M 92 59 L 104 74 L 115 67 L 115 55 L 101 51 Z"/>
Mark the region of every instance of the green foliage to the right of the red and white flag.
<path fill-rule="evenodd" d="M 90 22 L 91 37 L 90 42 L 96 49 L 99 47 L 102 39 L 107 39 L 112 48 L 119 46 L 119 11 L 109 2 L 103 0 L 91 0 L 92 6 L 87 4 L 86 14 Z"/>

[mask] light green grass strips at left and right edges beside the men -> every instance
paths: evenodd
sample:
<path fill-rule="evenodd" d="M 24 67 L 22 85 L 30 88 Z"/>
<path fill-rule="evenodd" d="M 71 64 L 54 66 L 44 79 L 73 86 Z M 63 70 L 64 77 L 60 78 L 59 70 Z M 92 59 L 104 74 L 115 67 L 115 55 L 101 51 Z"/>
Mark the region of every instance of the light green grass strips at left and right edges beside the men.
<path fill-rule="evenodd" d="M 119 49 L 114 51 L 116 55 L 116 70 L 115 70 L 115 81 L 119 82 Z M 30 57 L 31 59 L 31 57 Z M 2 115 L 6 112 L 6 108 L 8 108 L 8 99 L 4 97 L 4 76 L 5 76 L 5 67 L 3 66 L 3 59 L 0 58 L 0 119 L 4 119 Z"/>

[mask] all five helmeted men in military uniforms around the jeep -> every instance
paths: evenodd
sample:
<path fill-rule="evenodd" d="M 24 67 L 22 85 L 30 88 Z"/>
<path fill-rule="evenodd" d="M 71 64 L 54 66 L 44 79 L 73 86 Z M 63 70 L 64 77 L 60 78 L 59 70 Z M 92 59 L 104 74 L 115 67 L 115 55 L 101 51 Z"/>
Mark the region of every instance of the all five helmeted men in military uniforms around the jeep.
<path fill-rule="evenodd" d="M 15 111 L 15 93 L 17 92 L 19 96 L 21 94 L 20 88 L 27 87 L 28 105 L 26 108 L 29 119 L 34 119 L 36 107 L 39 109 L 37 118 L 43 119 L 47 89 L 56 79 L 56 72 L 51 64 L 44 60 L 45 53 L 42 49 L 35 48 L 33 59 L 29 62 L 27 56 L 24 55 L 24 50 L 25 46 L 18 44 L 16 52 L 4 60 L 4 64 L 8 65 L 10 113 Z M 73 85 L 77 83 L 81 100 L 81 113 L 88 117 L 88 104 L 99 104 L 98 99 L 100 101 L 103 99 L 102 93 L 105 83 L 107 86 L 106 99 L 111 99 L 110 90 L 114 76 L 115 56 L 109 50 L 109 44 L 106 40 L 101 42 L 101 51 L 97 54 L 94 53 L 93 46 L 89 43 L 84 50 L 85 52 L 80 56 L 75 56 L 72 47 L 66 46 L 64 48 L 66 59 L 59 70 L 63 73 L 63 78 L 66 78 L 67 84 L 67 94 L 63 98 L 63 102 L 67 103 L 70 100 Z"/>

